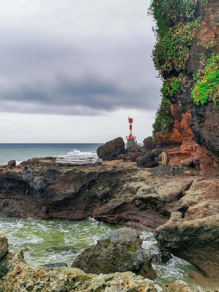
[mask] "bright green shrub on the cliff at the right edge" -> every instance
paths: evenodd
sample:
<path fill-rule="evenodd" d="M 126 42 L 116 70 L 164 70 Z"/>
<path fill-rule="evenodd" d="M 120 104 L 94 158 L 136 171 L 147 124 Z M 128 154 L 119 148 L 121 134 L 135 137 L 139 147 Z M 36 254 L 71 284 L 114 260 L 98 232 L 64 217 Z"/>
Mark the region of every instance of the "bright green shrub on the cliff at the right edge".
<path fill-rule="evenodd" d="M 219 101 L 219 55 L 211 54 L 203 71 L 198 73 L 199 80 L 192 90 L 196 104 L 204 105 L 208 101 Z"/>

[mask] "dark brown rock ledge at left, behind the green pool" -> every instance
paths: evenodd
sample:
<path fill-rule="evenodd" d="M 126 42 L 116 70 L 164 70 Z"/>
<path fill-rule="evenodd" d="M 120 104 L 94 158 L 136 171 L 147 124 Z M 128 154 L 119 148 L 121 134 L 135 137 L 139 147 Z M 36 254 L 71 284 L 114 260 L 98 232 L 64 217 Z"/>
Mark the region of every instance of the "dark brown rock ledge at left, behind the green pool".
<path fill-rule="evenodd" d="M 0 167 L 0 213 L 23 218 L 87 218 L 117 192 L 121 178 L 137 171 L 136 166 L 94 164 Z"/>

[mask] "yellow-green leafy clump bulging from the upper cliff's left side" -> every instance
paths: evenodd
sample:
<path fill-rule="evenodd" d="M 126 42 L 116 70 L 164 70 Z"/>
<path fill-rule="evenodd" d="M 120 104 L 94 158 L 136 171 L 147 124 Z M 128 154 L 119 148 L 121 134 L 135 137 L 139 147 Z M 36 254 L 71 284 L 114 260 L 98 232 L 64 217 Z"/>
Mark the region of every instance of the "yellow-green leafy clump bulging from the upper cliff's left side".
<path fill-rule="evenodd" d="M 161 73 L 185 69 L 189 58 L 189 47 L 200 25 L 195 20 L 187 24 L 175 25 L 156 44 L 152 57 L 155 68 Z"/>

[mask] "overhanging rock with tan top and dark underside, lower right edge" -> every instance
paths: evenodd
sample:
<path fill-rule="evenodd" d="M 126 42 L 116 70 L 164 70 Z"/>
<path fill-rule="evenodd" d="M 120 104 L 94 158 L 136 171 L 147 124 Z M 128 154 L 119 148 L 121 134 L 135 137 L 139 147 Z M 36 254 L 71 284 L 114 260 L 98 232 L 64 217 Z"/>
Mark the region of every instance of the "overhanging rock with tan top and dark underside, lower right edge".
<path fill-rule="evenodd" d="M 187 260 L 206 276 L 219 279 L 219 214 L 185 220 L 182 213 L 173 212 L 154 237 L 159 248 Z"/>

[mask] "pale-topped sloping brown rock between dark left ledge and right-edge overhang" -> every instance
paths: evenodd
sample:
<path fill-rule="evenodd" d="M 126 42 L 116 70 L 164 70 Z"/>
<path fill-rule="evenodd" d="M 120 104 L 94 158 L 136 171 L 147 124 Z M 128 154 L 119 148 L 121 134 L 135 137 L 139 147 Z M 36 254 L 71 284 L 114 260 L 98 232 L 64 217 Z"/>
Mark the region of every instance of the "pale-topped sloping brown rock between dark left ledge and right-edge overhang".
<path fill-rule="evenodd" d="M 139 170 L 131 177 L 134 181 L 126 182 L 115 198 L 93 211 L 93 217 L 137 229 L 154 229 L 162 225 L 171 212 L 178 209 L 178 200 L 185 195 L 194 179 L 164 179 L 162 168 L 161 174 L 161 178 L 157 178 Z"/>

